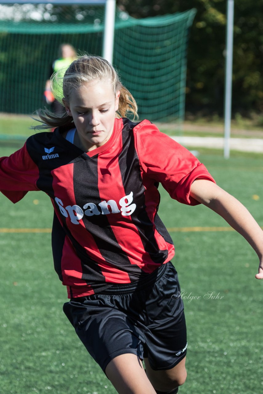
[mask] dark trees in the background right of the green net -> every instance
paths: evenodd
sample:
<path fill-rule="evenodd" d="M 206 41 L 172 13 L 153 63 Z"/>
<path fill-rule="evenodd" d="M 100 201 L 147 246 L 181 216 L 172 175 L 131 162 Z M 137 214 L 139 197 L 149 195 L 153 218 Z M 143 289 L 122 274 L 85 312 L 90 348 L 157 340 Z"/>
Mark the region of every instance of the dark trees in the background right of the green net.
<path fill-rule="evenodd" d="M 164 15 L 196 8 L 190 32 L 186 110 L 223 114 L 226 0 L 118 0 L 132 17 Z M 263 110 L 262 2 L 235 0 L 233 113 Z"/>

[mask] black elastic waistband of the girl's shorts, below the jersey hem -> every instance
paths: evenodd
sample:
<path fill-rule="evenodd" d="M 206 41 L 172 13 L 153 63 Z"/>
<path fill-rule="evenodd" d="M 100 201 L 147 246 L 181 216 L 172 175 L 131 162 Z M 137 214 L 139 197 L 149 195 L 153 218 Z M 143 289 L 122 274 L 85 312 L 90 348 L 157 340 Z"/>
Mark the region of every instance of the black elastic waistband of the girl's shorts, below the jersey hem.
<path fill-rule="evenodd" d="M 129 294 L 131 292 L 137 292 L 145 290 L 145 288 L 151 286 L 164 274 L 168 263 L 162 264 L 160 267 L 156 268 L 153 272 L 147 275 L 147 277 L 139 279 L 131 283 L 118 283 L 113 284 L 110 288 L 105 289 L 99 294 Z"/>

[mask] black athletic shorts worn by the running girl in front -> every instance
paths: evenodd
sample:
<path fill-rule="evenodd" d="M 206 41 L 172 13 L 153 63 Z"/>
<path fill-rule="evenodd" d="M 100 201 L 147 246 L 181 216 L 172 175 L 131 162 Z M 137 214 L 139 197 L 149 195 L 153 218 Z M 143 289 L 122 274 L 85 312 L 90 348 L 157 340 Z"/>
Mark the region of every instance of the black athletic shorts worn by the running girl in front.
<path fill-rule="evenodd" d="M 72 298 L 63 311 L 104 372 L 108 362 L 124 353 L 142 360 L 148 357 L 153 370 L 166 370 L 181 361 L 187 351 L 179 294 L 177 271 L 168 262 L 147 279 Z"/>

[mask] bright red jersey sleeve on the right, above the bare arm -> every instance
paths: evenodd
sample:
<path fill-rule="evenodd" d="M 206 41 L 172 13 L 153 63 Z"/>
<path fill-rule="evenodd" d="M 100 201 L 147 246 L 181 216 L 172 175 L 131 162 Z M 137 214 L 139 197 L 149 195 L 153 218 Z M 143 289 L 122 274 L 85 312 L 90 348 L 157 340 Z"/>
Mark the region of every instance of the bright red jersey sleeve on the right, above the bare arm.
<path fill-rule="evenodd" d="M 215 182 L 206 167 L 149 121 L 143 121 L 135 129 L 135 147 L 144 174 L 160 182 L 170 196 L 180 203 L 199 204 L 190 197 L 190 187 L 197 178 Z"/>

